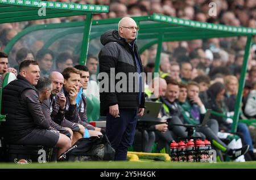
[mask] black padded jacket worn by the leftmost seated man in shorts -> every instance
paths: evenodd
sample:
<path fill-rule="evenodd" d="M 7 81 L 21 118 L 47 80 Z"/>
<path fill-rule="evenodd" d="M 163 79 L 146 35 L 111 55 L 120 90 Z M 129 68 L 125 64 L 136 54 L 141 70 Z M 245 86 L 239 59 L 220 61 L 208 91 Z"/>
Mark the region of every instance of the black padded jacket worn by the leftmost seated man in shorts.
<path fill-rule="evenodd" d="M 6 121 L 1 122 L 1 130 L 8 143 L 24 138 L 35 128 L 50 128 L 42 112 L 38 91 L 20 75 L 3 88 L 2 114 L 6 114 Z"/>

